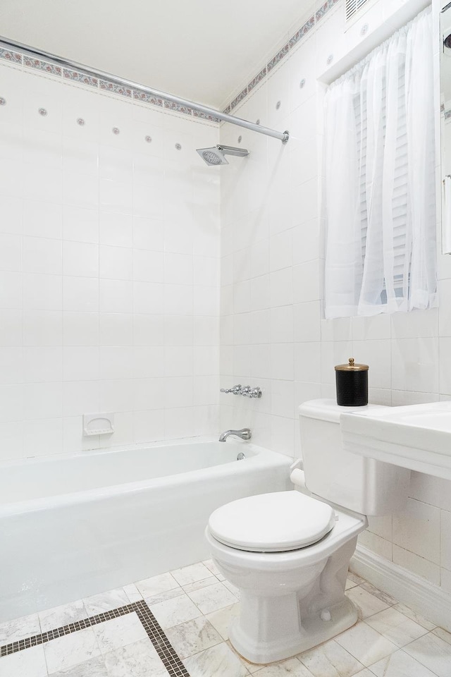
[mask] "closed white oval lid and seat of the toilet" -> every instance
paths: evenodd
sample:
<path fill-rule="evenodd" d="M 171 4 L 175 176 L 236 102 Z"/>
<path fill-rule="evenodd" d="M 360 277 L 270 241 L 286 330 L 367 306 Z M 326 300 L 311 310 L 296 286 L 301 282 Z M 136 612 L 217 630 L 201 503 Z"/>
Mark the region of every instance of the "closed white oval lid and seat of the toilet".
<path fill-rule="evenodd" d="M 211 535 L 251 552 L 282 552 L 319 541 L 333 528 L 335 512 L 301 492 L 259 494 L 232 501 L 211 513 Z"/>

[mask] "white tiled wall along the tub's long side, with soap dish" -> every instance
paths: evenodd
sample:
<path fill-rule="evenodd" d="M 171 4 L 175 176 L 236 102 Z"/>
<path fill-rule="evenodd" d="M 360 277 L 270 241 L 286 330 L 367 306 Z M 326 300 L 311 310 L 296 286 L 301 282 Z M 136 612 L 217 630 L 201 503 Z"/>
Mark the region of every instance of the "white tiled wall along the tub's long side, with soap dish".
<path fill-rule="evenodd" d="M 216 433 L 218 128 L 0 75 L 0 458 Z"/>

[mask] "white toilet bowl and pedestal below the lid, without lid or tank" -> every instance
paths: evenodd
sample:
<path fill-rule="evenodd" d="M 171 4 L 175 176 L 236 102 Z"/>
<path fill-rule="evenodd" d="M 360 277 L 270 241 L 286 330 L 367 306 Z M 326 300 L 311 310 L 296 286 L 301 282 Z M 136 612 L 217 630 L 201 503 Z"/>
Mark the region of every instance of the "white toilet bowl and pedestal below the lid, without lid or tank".
<path fill-rule="evenodd" d="M 242 551 L 206 529 L 219 571 L 241 593 L 233 647 L 251 663 L 281 661 L 316 647 L 357 622 L 345 595 L 347 570 L 366 527 L 364 516 L 337 512 L 332 530 L 309 547 L 274 553 Z"/>

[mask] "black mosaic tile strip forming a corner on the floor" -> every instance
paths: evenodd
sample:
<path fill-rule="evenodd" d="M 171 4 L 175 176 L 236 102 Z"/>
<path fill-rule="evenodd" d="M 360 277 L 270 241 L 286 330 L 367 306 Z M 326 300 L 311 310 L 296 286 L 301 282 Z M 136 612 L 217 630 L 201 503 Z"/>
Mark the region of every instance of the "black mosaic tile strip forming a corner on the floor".
<path fill-rule="evenodd" d="M 152 611 L 149 609 L 147 603 L 144 602 L 144 599 L 140 599 L 139 602 L 125 604 L 125 606 L 118 606 L 117 609 L 104 611 L 102 614 L 96 614 L 96 616 L 83 618 L 82 621 L 68 623 L 67 626 L 61 626 L 60 628 L 55 628 L 54 630 L 48 630 L 46 633 L 41 633 L 40 635 L 32 635 L 32 637 L 18 640 L 18 642 L 6 644 L 3 647 L 0 647 L 0 658 L 9 656 L 10 654 L 16 654 L 17 652 L 22 651 L 23 649 L 28 649 L 29 647 L 36 647 L 39 644 L 46 644 L 51 640 L 56 640 L 58 637 L 70 635 L 71 633 L 78 632 L 78 630 L 84 630 L 85 628 L 91 628 L 92 626 L 97 626 L 99 623 L 111 621 L 111 619 L 119 618 L 119 616 L 127 616 L 133 612 L 135 612 L 137 617 L 140 619 L 142 626 L 149 637 L 149 640 L 152 642 L 152 645 L 159 655 L 161 662 L 171 677 L 190 677 L 190 673 L 188 673 L 187 669 L 178 657 L 177 652 L 175 652 L 171 642 L 166 637 L 166 634 L 161 628 L 159 622 L 156 620 L 154 614 L 152 614 Z"/>

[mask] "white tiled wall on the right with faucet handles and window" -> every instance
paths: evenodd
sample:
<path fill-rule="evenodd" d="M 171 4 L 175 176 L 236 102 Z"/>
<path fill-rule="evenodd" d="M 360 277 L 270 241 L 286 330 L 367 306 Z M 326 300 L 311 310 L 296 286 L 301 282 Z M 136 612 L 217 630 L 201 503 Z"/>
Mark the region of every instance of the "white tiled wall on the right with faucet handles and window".
<path fill-rule="evenodd" d="M 237 145 L 242 135 L 250 151 L 248 159 L 232 161 L 221 173 L 221 386 L 249 382 L 264 390 L 259 401 L 221 395 L 221 426 L 249 426 L 259 444 L 295 457 L 302 453 L 297 405 L 335 397 L 333 367 L 350 355 L 370 365 L 375 403 L 451 396 L 449 257 L 439 255 L 438 309 L 321 319 L 323 85 L 317 76 L 329 54 L 336 61 L 362 39 L 362 22 L 369 23 L 370 32 L 376 28 L 382 7 L 387 17 L 395 10 L 376 3 L 345 34 L 339 4 L 240 104 L 238 115 L 289 129 L 286 146 L 221 128 L 223 143 Z M 405 510 L 370 520 L 362 544 L 450 590 L 450 487 L 443 482 L 440 492 L 440 482 L 413 473 Z"/>

